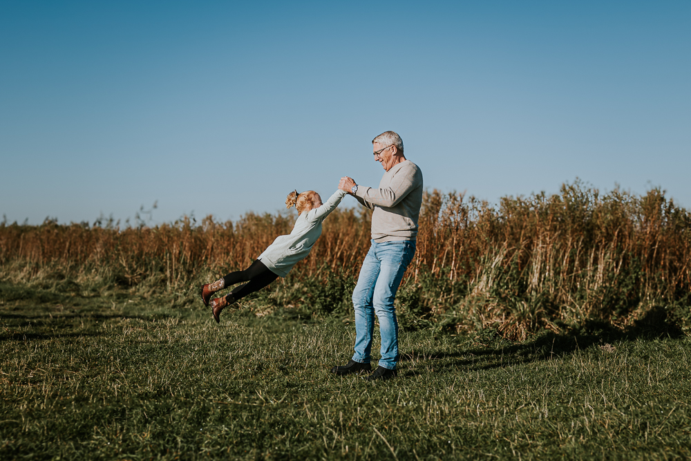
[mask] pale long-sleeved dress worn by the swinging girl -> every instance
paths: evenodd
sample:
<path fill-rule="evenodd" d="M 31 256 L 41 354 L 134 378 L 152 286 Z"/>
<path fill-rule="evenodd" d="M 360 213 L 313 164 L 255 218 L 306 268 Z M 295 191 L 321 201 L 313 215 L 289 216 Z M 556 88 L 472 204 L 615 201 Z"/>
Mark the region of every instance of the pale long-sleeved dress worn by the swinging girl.
<path fill-rule="evenodd" d="M 287 276 L 294 265 L 310 254 L 316 239 L 321 236 L 321 223 L 339 206 L 343 197 L 345 192 L 339 189 L 321 207 L 304 211 L 295 220 L 290 234 L 276 237 L 258 259 L 274 274 Z"/>

